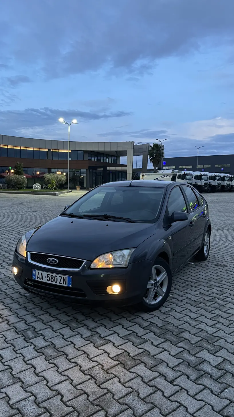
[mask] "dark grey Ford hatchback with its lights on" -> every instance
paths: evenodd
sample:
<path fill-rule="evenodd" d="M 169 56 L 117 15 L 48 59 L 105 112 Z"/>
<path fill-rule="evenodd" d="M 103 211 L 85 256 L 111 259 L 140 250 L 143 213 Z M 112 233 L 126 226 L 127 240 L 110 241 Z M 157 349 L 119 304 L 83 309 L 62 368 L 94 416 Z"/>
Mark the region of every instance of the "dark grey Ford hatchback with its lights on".
<path fill-rule="evenodd" d="M 210 234 L 207 202 L 192 186 L 107 183 L 22 236 L 14 276 L 29 291 L 153 311 L 170 293 L 172 272 L 195 255 L 208 258 Z"/>

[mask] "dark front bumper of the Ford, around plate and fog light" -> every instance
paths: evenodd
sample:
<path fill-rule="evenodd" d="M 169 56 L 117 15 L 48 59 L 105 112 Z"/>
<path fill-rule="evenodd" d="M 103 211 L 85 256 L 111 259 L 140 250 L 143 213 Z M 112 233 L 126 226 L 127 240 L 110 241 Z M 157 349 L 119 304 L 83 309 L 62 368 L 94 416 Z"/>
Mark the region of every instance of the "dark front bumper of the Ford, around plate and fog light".
<path fill-rule="evenodd" d="M 99 302 L 135 304 L 143 299 L 153 262 L 144 261 L 129 264 L 127 268 L 89 269 L 91 262 L 86 262 L 79 271 L 62 271 L 62 275 L 72 276 L 72 287 L 47 284 L 32 279 L 32 269 L 59 274 L 59 271 L 30 264 L 27 259 L 14 253 L 12 266 L 17 268 L 15 280 L 20 286 L 36 294 L 43 293 L 67 301 L 86 304 Z M 108 294 L 106 288 L 113 284 L 121 287 L 120 294 Z"/>

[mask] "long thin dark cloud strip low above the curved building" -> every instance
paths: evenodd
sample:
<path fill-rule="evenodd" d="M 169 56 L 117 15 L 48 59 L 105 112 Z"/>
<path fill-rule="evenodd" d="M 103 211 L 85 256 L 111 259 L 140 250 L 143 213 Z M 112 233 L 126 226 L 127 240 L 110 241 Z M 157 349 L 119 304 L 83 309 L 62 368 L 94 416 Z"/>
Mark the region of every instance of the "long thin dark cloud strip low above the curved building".
<path fill-rule="evenodd" d="M 53 108 L 27 108 L 25 110 L 0 111 L 0 124 L 2 129 L 18 129 L 47 127 L 57 123 L 59 117 L 65 120 L 77 118 L 78 121 L 94 121 L 100 119 L 121 118 L 131 113 L 125 111 L 113 111 L 109 113 L 94 113 L 79 110 L 59 110 Z"/>

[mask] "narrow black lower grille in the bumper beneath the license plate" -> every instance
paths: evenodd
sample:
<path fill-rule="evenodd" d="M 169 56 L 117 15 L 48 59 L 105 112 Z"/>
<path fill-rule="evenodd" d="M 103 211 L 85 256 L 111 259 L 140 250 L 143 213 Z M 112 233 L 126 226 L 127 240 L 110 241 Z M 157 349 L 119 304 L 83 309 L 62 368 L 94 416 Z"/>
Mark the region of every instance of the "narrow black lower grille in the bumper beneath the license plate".
<path fill-rule="evenodd" d="M 25 279 L 25 286 L 29 289 L 37 289 L 39 291 L 52 292 L 54 294 L 65 295 L 69 297 L 86 298 L 86 294 L 82 289 L 61 287 L 56 284 L 34 281 L 33 279 Z"/>

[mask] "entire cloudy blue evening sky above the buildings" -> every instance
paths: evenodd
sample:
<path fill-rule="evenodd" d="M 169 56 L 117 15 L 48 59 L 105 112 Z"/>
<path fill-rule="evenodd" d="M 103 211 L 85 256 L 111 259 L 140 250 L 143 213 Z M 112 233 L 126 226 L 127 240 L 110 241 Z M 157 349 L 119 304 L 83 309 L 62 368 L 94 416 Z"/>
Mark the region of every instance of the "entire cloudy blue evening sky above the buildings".
<path fill-rule="evenodd" d="M 233 0 L 0 0 L 0 134 L 234 153 Z"/>

